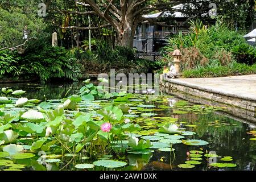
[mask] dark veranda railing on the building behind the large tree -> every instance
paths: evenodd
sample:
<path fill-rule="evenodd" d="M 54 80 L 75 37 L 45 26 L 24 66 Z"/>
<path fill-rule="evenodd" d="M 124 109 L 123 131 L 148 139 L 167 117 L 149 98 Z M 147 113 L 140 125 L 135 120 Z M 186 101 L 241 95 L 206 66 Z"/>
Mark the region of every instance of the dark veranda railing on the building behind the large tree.
<path fill-rule="evenodd" d="M 155 39 L 166 39 L 171 35 L 177 35 L 181 32 L 182 34 L 188 34 L 188 30 L 177 30 L 177 31 L 155 31 Z M 134 35 L 134 39 L 152 39 L 153 32 L 139 32 Z"/>

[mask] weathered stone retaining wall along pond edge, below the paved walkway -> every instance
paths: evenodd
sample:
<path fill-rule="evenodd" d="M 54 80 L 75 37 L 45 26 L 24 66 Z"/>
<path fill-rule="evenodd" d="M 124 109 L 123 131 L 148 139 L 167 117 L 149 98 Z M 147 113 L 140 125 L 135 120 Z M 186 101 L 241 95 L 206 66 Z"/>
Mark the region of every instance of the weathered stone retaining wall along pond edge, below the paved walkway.
<path fill-rule="evenodd" d="M 172 80 L 163 80 L 160 76 L 160 91 L 168 93 L 189 102 L 197 104 L 224 106 L 227 112 L 238 118 L 256 122 L 256 101 L 245 100 L 238 97 L 212 93 L 201 89 L 191 88 L 172 82 Z"/>

